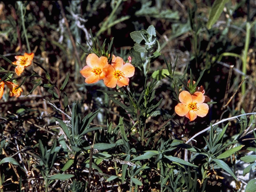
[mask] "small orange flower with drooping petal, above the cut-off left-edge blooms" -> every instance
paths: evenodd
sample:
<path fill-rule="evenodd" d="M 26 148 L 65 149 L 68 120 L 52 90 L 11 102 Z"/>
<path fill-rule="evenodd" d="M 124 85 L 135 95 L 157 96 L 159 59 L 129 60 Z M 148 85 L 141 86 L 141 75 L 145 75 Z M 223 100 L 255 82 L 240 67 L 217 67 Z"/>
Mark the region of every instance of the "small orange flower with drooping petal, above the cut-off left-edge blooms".
<path fill-rule="evenodd" d="M 15 72 L 18 76 L 24 71 L 24 68 L 30 66 L 32 60 L 34 58 L 34 53 L 25 53 L 24 56 L 19 55 L 15 56 L 16 61 L 12 62 L 12 64 L 17 65 L 15 68 Z"/>

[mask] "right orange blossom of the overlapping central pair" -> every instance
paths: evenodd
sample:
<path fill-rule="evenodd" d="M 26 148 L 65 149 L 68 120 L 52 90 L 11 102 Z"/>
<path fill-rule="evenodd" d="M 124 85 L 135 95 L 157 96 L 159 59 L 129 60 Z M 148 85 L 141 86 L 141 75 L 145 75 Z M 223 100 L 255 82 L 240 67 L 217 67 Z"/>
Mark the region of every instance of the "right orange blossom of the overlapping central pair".
<path fill-rule="evenodd" d="M 106 78 L 104 84 L 107 87 L 114 88 L 116 84 L 120 87 L 129 84 L 129 77 L 134 76 L 135 68 L 130 63 L 125 63 L 121 57 L 112 55 L 111 65 L 104 68 Z"/>

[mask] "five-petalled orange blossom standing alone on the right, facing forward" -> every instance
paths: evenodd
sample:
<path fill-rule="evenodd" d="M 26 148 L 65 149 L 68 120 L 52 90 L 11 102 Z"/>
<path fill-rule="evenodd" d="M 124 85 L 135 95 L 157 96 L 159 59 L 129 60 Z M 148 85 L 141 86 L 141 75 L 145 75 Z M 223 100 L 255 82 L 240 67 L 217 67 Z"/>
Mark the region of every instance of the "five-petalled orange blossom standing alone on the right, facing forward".
<path fill-rule="evenodd" d="M 188 91 L 182 91 L 179 95 L 181 103 L 175 106 L 175 112 L 179 116 L 186 116 L 190 121 L 196 119 L 197 116 L 204 117 L 208 113 L 209 106 L 204 103 L 205 97 L 202 92 L 194 92 L 190 94 Z"/>

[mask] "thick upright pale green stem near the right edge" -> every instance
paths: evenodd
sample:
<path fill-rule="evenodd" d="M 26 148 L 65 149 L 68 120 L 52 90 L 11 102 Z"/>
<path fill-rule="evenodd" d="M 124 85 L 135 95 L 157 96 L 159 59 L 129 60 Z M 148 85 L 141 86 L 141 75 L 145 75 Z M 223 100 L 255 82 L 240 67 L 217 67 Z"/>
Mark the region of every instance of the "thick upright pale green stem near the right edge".
<path fill-rule="evenodd" d="M 245 38 L 245 44 L 244 44 L 244 50 L 242 55 L 242 72 L 246 75 L 246 65 L 247 65 L 247 54 L 250 44 L 250 30 L 251 25 L 250 22 L 246 23 L 246 38 Z M 242 80 L 245 78 L 245 76 L 242 76 Z M 246 84 L 242 84 L 242 95 L 245 93 Z"/>

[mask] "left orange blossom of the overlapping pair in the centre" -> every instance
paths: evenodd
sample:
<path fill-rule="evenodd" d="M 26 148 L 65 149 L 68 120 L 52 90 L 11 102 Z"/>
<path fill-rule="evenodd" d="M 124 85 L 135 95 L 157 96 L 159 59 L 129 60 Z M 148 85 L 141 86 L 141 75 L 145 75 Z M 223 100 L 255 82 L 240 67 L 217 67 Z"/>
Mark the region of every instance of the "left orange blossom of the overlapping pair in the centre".
<path fill-rule="evenodd" d="M 98 80 L 105 78 L 103 68 L 108 65 L 108 58 L 104 56 L 98 58 L 96 54 L 91 53 L 86 58 L 86 64 L 80 71 L 82 76 L 85 77 L 86 83 L 96 83 Z"/>

